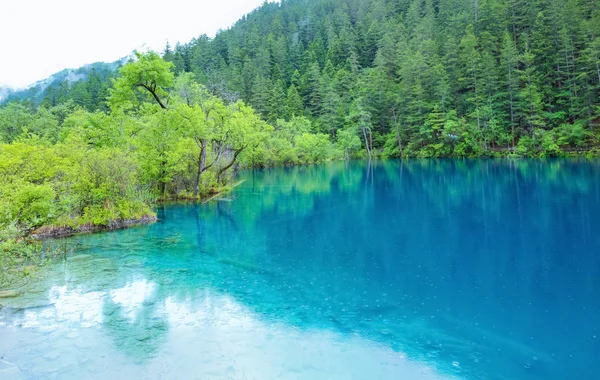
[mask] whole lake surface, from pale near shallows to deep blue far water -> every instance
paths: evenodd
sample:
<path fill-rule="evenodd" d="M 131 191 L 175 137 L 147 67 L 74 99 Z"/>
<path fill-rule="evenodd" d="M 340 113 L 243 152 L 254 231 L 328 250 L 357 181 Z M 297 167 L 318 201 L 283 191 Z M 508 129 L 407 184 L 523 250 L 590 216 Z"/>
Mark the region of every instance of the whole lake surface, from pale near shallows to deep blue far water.
<path fill-rule="evenodd" d="M 65 241 L 0 299 L 1 379 L 598 379 L 597 161 L 246 172 Z"/>

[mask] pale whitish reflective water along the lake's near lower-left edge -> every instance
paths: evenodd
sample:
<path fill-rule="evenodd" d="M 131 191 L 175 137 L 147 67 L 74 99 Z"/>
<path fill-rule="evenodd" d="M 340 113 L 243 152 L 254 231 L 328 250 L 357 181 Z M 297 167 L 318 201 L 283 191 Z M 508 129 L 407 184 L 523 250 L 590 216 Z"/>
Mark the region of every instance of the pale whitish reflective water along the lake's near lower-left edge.
<path fill-rule="evenodd" d="M 38 305 L 31 296 L 11 302 L 0 310 L 0 378 L 453 378 L 358 335 L 266 323 L 211 290 L 140 315 L 155 290 L 147 280 L 97 291 L 57 286 Z"/>

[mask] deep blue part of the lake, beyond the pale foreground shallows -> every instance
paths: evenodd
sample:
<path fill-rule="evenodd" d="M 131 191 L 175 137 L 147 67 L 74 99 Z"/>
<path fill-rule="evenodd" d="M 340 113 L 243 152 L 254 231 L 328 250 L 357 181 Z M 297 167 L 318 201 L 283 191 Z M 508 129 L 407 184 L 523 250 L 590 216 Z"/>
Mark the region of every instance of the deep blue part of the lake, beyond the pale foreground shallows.
<path fill-rule="evenodd" d="M 599 168 L 440 160 L 273 169 L 247 173 L 233 202 L 163 215 L 197 217 L 200 250 L 264 271 L 262 286 L 281 304 L 265 308 L 262 291 L 249 302 L 269 317 L 358 333 L 467 378 L 594 379 Z"/>

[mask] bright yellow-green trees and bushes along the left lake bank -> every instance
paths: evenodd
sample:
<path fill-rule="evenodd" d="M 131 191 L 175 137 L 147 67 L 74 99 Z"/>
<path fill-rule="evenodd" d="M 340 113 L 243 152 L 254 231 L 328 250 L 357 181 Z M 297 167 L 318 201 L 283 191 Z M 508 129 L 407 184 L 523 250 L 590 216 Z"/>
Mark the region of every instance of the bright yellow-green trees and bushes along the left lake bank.
<path fill-rule="evenodd" d="M 281 118 L 273 128 L 244 102 L 226 102 L 172 69 L 154 52 L 138 53 L 114 81 L 109 112 L 72 102 L 0 108 L 4 257 L 27 256 L 25 242 L 42 227 L 110 227 L 152 215 L 157 198 L 226 189 L 241 167 L 333 157 L 329 136 L 311 133 L 310 119 Z"/>

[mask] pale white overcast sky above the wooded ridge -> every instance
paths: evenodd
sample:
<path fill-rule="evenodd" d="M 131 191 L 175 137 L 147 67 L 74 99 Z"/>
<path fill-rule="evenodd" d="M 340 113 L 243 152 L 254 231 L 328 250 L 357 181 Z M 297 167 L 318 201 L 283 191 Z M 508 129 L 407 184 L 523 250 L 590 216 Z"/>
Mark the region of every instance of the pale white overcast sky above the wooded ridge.
<path fill-rule="evenodd" d="M 0 6 L 0 86 L 214 36 L 263 0 L 14 0 Z"/>

